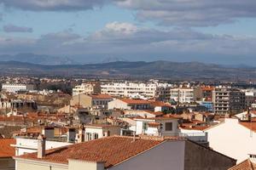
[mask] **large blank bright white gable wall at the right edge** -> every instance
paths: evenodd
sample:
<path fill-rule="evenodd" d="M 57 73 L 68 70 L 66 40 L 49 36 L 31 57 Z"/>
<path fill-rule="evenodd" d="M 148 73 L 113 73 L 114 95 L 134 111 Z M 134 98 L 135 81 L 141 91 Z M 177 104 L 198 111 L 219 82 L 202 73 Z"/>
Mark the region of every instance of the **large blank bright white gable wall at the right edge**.
<path fill-rule="evenodd" d="M 256 133 L 238 123 L 237 119 L 225 119 L 216 127 L 207 129 L 210 147 L 226 156 L 237 159 L 237 163 L 256 154 Z"/>

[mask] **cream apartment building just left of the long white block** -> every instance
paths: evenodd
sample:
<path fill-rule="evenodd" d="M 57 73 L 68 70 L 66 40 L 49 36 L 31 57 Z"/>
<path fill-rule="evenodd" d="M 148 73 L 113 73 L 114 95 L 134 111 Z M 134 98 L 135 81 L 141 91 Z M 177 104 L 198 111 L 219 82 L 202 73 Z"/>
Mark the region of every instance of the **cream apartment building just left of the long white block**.
<path fill-rule="evenodd" d="M 101 94 L 101 82 L 84 82 L 73 88 L 73 96 L 78 94 Z"/>

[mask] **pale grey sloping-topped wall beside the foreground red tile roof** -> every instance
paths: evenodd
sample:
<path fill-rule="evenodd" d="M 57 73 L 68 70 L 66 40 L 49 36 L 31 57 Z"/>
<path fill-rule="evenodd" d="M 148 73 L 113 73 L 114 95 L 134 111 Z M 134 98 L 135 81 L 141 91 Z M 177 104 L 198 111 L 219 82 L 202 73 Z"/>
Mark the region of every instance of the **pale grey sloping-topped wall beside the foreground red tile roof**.
<path fill-rule="evenodd" d="M 184 141 L 166 141 L 109 169 L 183 170 L 184 145 Z"/>

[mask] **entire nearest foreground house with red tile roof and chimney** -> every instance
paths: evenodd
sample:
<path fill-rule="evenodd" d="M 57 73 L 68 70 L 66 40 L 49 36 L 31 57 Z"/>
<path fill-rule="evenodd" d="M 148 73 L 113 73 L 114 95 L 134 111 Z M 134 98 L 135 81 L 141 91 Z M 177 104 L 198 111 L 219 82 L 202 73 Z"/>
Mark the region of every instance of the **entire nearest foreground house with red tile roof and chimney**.
<path fill-rule="evenodd" d="M 16 170 L 226 170 L 236 160 L 180 137 L 111 136 L 45 150 L 38 137 L 38 153 L 15 156 Z"/>

